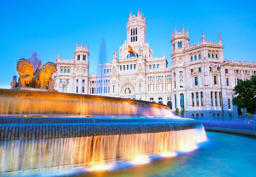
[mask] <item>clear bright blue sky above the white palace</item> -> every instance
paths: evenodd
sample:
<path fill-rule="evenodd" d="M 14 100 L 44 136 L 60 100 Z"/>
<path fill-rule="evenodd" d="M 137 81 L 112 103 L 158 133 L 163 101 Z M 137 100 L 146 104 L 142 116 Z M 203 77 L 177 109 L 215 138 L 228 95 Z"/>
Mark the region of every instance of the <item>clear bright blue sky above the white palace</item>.
<path fill-rule="evenodd" d="M 147 42 L 154 57 L 171 61 L 171 29 L 188 27 L 190 43 L 218 42 L 221 32 L 224 58 L 256 61 L 256 1 L 0 1 L 0 88 L 10 88 L 20 58 L 32 56 L 42 65 L 71 59 L 76 42 L 89 44 L 90 73 L 97 72 L 101 39 L 105 38 L 107 62 L 126 40 L 128 12 L 142 8 Z M 119 56 L 118 56 L 119 57 Z"/>

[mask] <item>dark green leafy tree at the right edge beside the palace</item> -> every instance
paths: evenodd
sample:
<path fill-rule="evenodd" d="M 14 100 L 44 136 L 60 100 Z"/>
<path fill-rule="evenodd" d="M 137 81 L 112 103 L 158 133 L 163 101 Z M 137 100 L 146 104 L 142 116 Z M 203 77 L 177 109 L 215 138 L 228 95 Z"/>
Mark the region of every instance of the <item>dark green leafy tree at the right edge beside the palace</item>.
<path fill-rule="evenodd" d="M 235 98 L 232 103 L 240 108 L 246 108 L 251 114 L 256 114 L 256 75 L 252 75 L 250 80 L 238 80 L 234 88 Z"/>

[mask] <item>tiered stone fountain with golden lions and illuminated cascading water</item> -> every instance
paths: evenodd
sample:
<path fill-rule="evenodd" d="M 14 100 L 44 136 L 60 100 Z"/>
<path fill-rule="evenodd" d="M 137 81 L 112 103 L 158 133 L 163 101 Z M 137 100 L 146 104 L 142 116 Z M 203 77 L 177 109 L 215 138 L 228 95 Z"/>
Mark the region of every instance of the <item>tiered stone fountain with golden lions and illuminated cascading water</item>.
<path fill-rule="evenodd" d="M 51 86 L 54 66 L 48 62 L 34 70 L 21 59 L 19 83 L 14 79 L 11 89 L 0 89 L 1 175 L 147 163 L 145 156 L 170 156 L 207 139 L 200 122 L 173 118 L 167 105 L 57 93 Z"/>

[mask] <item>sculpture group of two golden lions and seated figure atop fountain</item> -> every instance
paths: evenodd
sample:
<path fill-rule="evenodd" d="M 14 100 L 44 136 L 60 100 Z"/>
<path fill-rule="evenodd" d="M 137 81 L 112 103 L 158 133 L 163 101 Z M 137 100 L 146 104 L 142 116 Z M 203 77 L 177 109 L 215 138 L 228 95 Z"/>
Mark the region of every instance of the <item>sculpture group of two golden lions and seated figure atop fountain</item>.
<path fill-rule="evenodd" d="M 16 76 L 13 77 L 11 89 L 58 92 L 53 89 L 52 85 L 55 84 L 55 80 L 52 79 L 52 76 L 58 71 L 57 67 L 53 62 L 47 62 L 40 69 L 42 63 L 36 56 L 36 52 L 33 52 L 32 57 L 28 60 L 22 58 L 17 62 L 16 70 L 20 78 L 17 83 Z"/>

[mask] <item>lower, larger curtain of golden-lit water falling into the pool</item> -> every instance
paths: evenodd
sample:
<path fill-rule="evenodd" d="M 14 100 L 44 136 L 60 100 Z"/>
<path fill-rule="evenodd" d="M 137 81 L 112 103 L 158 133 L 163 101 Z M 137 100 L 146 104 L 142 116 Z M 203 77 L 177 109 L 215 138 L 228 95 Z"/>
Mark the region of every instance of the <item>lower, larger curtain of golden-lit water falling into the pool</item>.
<path fill-rule="evenodd" d="M 95 167 L 116 160 L 133 161 L 152 154 L 195 148 L 206 140 L 203 127 L 128 135 L 0 142 L 0 171 L 12 174 Z"/>

